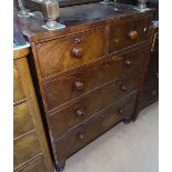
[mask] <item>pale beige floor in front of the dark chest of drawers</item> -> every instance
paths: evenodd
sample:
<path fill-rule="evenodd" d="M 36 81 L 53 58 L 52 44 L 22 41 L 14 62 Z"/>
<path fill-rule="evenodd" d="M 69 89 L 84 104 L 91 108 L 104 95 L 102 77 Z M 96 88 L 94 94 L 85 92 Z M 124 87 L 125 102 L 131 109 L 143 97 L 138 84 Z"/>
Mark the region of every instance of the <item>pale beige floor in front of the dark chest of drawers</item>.
<path fill-rule="evenodd" d="M 158 172 L 159 104 L 120 123 L 67 160 L 63 172 Z"/>

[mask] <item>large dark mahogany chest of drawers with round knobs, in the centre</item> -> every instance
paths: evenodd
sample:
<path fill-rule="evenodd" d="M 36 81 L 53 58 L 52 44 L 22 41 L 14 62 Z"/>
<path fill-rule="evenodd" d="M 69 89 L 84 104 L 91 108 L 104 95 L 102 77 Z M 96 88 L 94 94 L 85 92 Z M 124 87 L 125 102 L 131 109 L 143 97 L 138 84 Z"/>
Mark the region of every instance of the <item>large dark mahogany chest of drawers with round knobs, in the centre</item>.
<path fill-rule="evenodd" d="M 139 12 L 133 6 L 90 3 L 60 9 L 60 21 L 67 26 L 61 30 L 44 30 L 40 12 L 20 19 L 31 43 L 30 68 L 57 171 L 98 135 L 131 121 L 152 17 L 153 10 Z"/>

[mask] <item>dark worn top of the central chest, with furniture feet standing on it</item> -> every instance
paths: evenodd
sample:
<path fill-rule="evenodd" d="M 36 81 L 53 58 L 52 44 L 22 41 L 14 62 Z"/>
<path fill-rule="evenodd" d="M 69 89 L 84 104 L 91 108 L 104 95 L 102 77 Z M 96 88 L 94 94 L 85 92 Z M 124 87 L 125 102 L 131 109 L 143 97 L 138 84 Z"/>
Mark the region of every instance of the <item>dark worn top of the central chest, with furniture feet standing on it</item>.
<path fill-rule="evenodd" d="M 44 18 L 41 12 L 33 12 L 29 18 L 20 18 L 23 33 L 30 42 L 37 42 L 72 32 L 89 30 L 91 28 L 105 26 L 109 22 L 123 22 L 134 18 L 152 16 L 153 9 L 138 11 L 134 6 L 122 3 L 89 3 L 60 8 L 58 21 L 65 24 L 60 30 L 48 31 L 42 26 Z"/>

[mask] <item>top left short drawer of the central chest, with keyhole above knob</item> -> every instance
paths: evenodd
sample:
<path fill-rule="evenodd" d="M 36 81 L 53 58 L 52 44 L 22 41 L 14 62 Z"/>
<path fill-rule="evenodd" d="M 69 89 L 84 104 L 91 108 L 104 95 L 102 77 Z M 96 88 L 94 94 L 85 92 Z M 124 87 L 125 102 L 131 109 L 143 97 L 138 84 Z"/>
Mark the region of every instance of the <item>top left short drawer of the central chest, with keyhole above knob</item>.
<path fill-rule="evenodd" d="M 43 78 L 77 68 L 105 53 L 104 28 L 37 44 Z"/>

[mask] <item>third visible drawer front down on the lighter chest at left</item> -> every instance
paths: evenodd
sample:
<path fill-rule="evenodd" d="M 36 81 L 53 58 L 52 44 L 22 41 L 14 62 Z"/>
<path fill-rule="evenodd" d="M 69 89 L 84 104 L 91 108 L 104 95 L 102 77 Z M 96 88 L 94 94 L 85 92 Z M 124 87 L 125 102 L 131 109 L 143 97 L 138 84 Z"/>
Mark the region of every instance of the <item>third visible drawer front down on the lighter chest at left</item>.
<path fill-rule="evenodd" d="M 13 159 L 14 169 L 34 158 L 41 152 L 40 143 L 36 132 L 31 132 L 14 140 L 13 143 Z"/>

